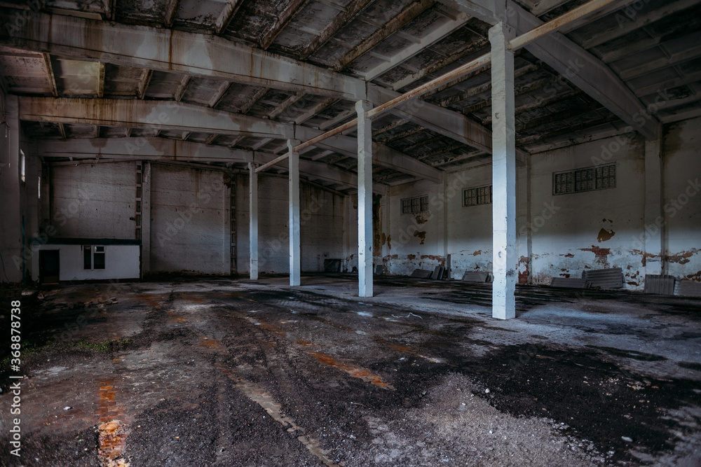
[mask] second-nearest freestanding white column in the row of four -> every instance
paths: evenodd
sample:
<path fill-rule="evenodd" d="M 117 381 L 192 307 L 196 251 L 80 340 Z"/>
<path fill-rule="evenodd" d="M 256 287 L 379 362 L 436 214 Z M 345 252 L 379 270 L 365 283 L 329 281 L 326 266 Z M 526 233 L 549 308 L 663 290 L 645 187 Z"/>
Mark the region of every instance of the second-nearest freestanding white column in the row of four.
<path fill-rule="evenodd" d="M 355 103 L 358 112 L 358 296 L 372 297 L 372 104 Z"/>

